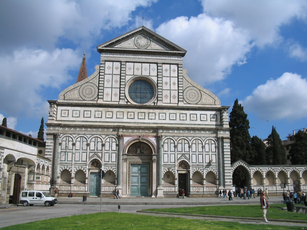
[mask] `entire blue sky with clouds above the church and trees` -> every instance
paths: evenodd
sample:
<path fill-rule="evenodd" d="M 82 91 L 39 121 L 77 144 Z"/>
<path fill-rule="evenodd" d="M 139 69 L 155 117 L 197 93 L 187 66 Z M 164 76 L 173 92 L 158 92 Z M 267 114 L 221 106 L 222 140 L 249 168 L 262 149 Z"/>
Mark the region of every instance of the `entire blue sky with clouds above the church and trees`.
<path fill-rule="evenodd" d="M 74 84 L 83 53 L 144 24 L 187 50 L 183 67 L 221 105 L 244 106 L 251 136 L 307 123 L 307 1 L 1 1 L 0 119 L 37 137 L 47 100 Z M 144 20 L 142 20 L 144 17 Z M 229 112 L 231 108 L 229 109 Z M 46 128 L 46 127 L 45 127 Z"/>

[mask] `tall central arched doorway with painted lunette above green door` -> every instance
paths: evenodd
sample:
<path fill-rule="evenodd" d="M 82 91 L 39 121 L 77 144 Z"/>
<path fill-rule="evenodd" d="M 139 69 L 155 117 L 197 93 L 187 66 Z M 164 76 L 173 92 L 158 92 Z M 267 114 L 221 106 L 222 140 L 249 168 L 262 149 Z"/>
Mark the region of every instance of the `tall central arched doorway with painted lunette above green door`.
<path fill-rule="evenodd" d="M 124 155 L 127 162 L 127 195 L 147 197 L 152 195 L 153 149 L 143 141 L 133 142 Z"/>

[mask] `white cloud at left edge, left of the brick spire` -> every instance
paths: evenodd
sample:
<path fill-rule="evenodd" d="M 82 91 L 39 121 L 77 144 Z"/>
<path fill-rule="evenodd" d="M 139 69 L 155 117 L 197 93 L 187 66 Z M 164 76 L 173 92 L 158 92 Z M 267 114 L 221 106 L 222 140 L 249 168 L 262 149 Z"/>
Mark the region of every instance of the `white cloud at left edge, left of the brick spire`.
<path fill-rule="evenodd" d="M 14 116 L 22 112 L 42 117 L 48 111 L 42 91 L 59 88 L 71 79 L 68 71 L 79 65 L 80 57 L 72 49 L 48 52 L 24 48 L 13 55 L 2 55 L 0 108 Z"/>

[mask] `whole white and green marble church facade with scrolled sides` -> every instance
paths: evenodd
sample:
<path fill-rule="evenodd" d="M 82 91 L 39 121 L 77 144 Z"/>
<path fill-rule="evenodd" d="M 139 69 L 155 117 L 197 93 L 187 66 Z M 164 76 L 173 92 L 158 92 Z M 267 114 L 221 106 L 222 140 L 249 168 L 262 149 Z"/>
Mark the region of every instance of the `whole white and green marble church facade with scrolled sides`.
<path fill-rule="evenodd" d="M 97 50 L 95 72 L 49 101 L 51 184 L 98 196 L 102 169 L 103 195 L 231 189 L 229 106 L 188 77 L 186 51 L 144 26 Z"/>

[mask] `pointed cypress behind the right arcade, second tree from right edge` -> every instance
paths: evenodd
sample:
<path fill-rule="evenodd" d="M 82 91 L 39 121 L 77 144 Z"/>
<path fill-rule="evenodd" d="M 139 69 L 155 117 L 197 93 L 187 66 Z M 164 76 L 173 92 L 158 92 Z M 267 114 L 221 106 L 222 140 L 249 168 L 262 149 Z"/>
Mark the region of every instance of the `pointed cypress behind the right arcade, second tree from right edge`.
<path fill-rule="evenodd" d="M 271 165 L 287 163 L 286 151 L 274 126 L 266 142 L 266 163 Z"/>

